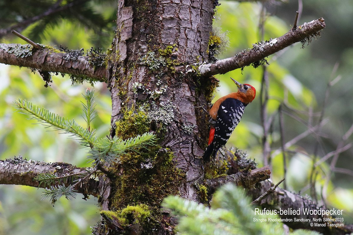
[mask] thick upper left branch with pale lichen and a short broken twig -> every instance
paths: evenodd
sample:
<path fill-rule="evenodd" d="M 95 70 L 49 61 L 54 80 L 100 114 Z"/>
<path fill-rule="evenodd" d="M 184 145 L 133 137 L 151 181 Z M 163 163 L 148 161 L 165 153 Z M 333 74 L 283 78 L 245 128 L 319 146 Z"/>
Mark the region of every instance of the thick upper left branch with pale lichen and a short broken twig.
<path fill-rule="evenodd" d="M 105 81 L 107 70 L 104 66 L 95 67 L 85 56 L 78 56 L 77 60 L 65 60 L 67 53 L 55 52 L 51 49 L 25 50 L 29 45 L 0 44 L 0 63 L 40 69 L 42 71 L 72 74 L 73 76 L 87 76 L 97 81 Z M 19 47 L 20 49 L 16 49 Z M 27 48 L 28 48 L 27 47 Z M 4 48 L 11 48 L 4 49 Z M 24 51 L 20 51 L 24 50 Z"/>

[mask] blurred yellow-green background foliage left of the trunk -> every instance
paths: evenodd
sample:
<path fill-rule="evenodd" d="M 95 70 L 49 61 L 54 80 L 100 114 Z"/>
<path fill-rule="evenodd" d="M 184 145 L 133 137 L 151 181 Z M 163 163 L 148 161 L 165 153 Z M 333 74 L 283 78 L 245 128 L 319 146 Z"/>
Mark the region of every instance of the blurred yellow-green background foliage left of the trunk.
<path fill-rule="evenodd" d="M 108 1 L 103 2 L 103 5 L 92 4 L 92 7 L 101 12 L 103 18 L 107 18 L 104 14 L 113 14 L 115 18 L 114 7 L 108 7 L 109 2 L 113 4 Z M 5 17 L 6 14 L 1 16 Z M 1 26 L 4 27 L 3 24 Z M 32 35 L 35 26 L 31 25 L 22 33 Z M 71 19 L 57 19 L 55 23 L 46 24 L 40 32 L 35 37 L 38 43 L 85 50 L 90 47 L 108 48 L 114 35 L 114 29 L 111 28 L 109 33 L 103 35 L 104 40 L 98 42 L 95 29 L 83 23 L 77 24 L 76 20 L 72 22 Z M 22 39 L 13 36 L 1 41 L 10 42 L 24 43 Z M 37 124 L 36 120 L 30 120 L 29 115 L 16 111 L 14 101 L 18 98 L 28 99 L 85 126 L 80 102 L 90 84 L 72 85 L 68 76 L 62 78 L 54 75 L 52 78 L 54 82 L 45 88 L 38 73 L 34 74 L 28 68 L 0 64 L 0 158 L 22 155 L 36 161 L 63 161 L 79 167 L 89 167 L 91 163 L 86 158 L 87 149 L 83 149 L 78 141 L 68 134 L 46 129 Z M 110 128 L 110 93 L 106 84 L 95 84 L 95 93 L 98 116 L 92 126 L 96 129 L 97 137 L 104 137 L 109 135 Z M 96 198 L 91 197 L 88 201 L 79 196 L 73 200 L 60 199 L 53 207 L 49 200 L 41 200 L 41 194 L 41 189 L 32 187 L 0 185 L 0 234 L 90 234 L 90 226 L 100 220 Z"/>

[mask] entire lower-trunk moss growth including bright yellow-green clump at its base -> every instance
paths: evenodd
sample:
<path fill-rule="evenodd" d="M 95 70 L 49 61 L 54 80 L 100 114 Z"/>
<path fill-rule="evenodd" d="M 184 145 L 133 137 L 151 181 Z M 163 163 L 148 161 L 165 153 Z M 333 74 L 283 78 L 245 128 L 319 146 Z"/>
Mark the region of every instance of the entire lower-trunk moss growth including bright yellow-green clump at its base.
<path fill-rule="evenodd" d="M 173 163 L 169 149 L 154 146 L 140 153 L 121 156 L 122 167 L 112 167 L 111 208 L 127 219 L 128 223 L 143 226 L 144 234 L 163 223 L 160 203 L 169 194 L 178 194 L 184 174 Z M 148 205 L 148 206 L 147 206 Z M 148 223 L 144 223 L 148 219 Z"/>

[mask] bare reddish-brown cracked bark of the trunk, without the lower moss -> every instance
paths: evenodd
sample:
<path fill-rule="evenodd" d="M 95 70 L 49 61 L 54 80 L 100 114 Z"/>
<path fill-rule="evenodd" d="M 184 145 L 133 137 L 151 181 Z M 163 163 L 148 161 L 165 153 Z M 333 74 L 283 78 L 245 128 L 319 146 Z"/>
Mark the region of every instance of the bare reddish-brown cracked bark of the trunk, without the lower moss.
<path fill-rule="evenodd" d="M 143 92 L 133 93 L 135 82 L 150 91 L 158 90 L 158 80 L 167 86 L 166 92 L 156 99 L 157 107 L 171 102 L 174 118 L 168 124 L 161 143 L 174 152 L 177 167 L 186 173 L 186 181 L 180 186 L 181 196 L 197 201 L 195 182 L 202 180 L 203 169 L 199 156 L 203 149 L 196 135 L 186 134 L 183 123 L 195 125 L 195 88 L 193 81 L 168 69 L 151 70 L 140 58 L 149 51 L 165 49 L 173 45 L 173 59 L 179 64 L 191 64 L 207 60 L 209 32 L 211 31 L 213 3 L 206 1 L 119 1 L 116 38 L 113 41 L 113 58 L 108 64 L 109 87 L 112 94 L 112 124 L 121 118 L 121 109 L 151 98 Z M 163 74 L 160 75 L 160 72 Z M 124 92 L 121 92 L 121 91 Z M 123 94 L 122 94 L 123 93 Z M 128 98 L 129 102 L 125 102 Z M 151 99 L 150 99 L 151 100 Z M 202 128 L 207 128 L 202 126 Z"/>

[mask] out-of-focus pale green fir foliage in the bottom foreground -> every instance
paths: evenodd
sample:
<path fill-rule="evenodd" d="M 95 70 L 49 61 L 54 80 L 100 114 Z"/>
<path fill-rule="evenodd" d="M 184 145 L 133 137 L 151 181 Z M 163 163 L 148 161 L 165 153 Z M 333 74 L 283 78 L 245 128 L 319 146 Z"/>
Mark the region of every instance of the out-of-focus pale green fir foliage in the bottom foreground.
<path fill-rule="evenodd" d="M 165 198 L 162 206 L 177 216 L 179 224 L 176 230 L 180 235 L 319 235 L 315 231 L 301 229 L 286 233 L 281 223 L 268 220 L 278 219 L 277 215 L 256 215 L 255 206 L 250 203 L 244 190 L 234 184 L 226 184 L 215 192 L 211 208 L 179 196 Z"/>

